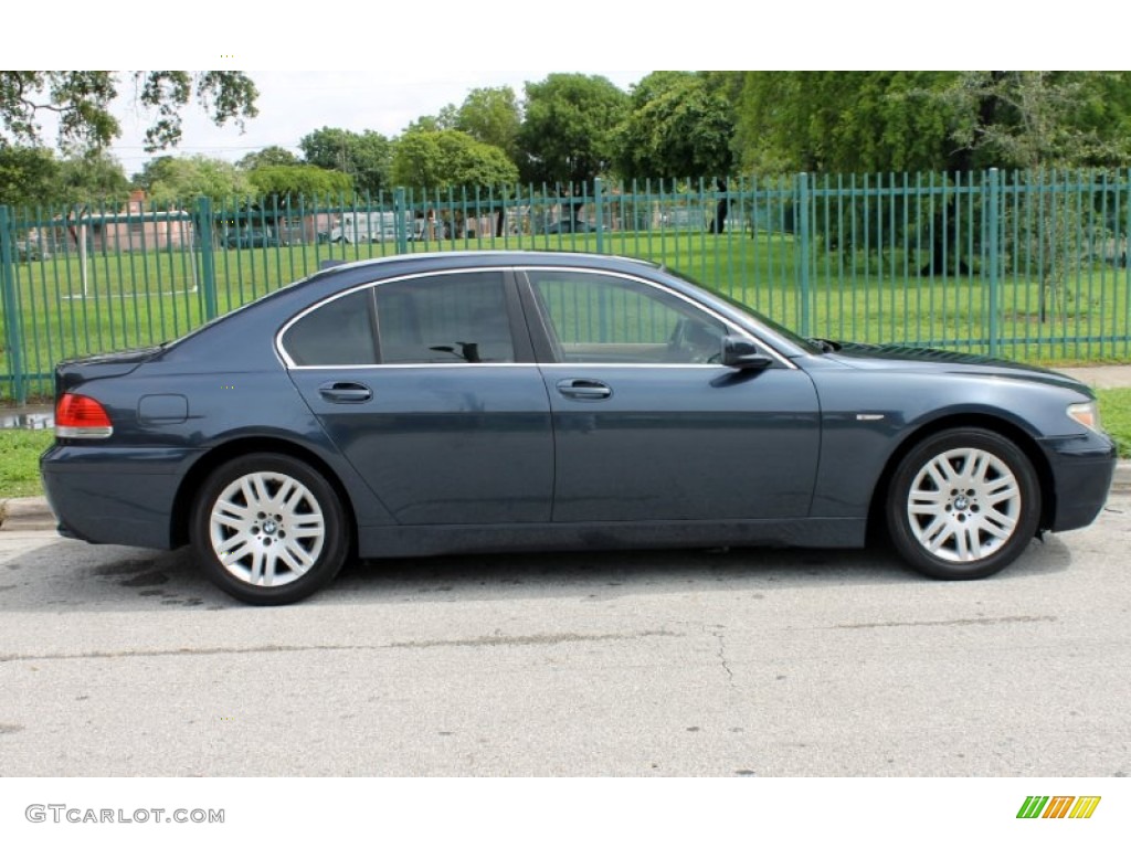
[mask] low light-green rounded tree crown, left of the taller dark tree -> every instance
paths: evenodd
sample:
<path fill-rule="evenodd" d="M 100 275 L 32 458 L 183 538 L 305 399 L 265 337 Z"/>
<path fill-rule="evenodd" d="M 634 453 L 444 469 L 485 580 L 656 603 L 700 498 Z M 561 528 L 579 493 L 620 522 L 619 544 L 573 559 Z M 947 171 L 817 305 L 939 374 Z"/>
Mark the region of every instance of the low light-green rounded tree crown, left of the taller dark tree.
<path fill-rule="evenodd" d="M 476 141 L 459 130 L 415 130 L 404 133 L 392 156 L 397 185 L 448 191 L 512 185 L 518 167 L 498 147 Z"/>

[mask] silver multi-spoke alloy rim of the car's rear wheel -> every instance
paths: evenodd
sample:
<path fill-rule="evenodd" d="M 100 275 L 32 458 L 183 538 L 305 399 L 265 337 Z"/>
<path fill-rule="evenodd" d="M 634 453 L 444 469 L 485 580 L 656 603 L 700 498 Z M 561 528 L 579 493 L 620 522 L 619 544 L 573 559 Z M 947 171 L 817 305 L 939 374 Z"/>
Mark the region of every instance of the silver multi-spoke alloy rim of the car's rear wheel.
<path fill-rule="evenodd" d="M 326 517 L 302 483 L 278 471 L 245 474 L 213 504 L 216 557 L 249 586 L 286 586 L 310 571 L 326 544 Z"/>

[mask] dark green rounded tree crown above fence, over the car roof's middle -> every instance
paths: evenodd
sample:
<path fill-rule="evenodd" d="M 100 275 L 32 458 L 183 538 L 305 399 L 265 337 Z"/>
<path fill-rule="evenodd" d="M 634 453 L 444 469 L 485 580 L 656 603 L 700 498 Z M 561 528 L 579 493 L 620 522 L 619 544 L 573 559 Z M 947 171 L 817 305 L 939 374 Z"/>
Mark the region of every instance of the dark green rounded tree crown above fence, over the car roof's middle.
<path fill-rule="evenodd" d="M 615 128 L 628 112 L 628 94 L 605 77 L 551 73 L 542 83 L 527 83 L 519 130 L 523 179 L 592 182 L 612 163 Z"/>

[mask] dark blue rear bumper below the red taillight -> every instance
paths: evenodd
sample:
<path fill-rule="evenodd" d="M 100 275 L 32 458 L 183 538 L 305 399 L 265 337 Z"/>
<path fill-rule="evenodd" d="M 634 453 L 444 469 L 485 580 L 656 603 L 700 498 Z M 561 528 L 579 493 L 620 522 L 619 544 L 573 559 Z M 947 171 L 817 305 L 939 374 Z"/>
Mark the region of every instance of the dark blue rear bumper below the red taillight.
<path fill-rule="evenodd" d="M 59 533 L 96 544 L 172 547 L 172 516 L 196 451 L 54 444 L 40 458 Z"/>

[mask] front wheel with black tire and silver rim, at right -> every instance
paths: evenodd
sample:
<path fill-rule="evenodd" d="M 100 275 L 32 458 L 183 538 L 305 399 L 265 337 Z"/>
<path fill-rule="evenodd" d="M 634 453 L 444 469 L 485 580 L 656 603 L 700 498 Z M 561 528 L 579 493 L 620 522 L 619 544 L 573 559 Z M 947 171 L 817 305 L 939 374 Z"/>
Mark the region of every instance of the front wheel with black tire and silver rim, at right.
<path fill-rule="evenodd" d="M 929 436 L 903 459 L 887 502 L 891 540 L 916 571 L 973 580 L 1021 555 L 1041 521 L 1041 485 L 1013 442 L 981 429 Z"/>

